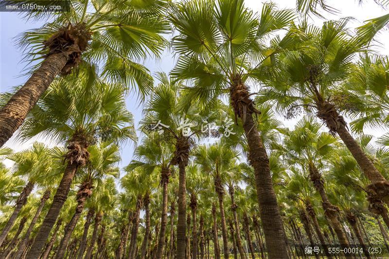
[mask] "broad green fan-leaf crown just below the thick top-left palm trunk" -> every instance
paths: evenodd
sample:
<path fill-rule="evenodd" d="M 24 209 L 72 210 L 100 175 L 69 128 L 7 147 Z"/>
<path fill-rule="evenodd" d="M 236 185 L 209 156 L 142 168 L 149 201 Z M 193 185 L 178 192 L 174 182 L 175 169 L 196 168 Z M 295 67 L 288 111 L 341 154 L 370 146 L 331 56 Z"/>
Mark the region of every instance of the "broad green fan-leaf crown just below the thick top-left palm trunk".
<path fill-rule="evenodd" d="M 64 142 L 81 131 L 90 143 L 123 142 L 128 138 L 136 141 L 133 116 L 125 106 L 125 87 L 107 84 L 93 72 L 75 77 L 53 82 L 27 116 L 20 137 L 27 139 L 44 134 Z"/>

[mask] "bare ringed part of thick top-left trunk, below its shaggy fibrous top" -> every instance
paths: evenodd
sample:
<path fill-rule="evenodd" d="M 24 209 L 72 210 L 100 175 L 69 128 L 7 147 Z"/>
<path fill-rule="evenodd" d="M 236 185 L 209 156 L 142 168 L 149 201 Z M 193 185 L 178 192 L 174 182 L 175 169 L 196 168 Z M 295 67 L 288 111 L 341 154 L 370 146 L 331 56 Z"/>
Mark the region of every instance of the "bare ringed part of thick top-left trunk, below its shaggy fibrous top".
<path fill-rule="evenodd" d="M 20 127 L 27 114 L 68 61 L 65 53 L 50 54 L 27 82 L 0 109 L 0 147 Z"/>

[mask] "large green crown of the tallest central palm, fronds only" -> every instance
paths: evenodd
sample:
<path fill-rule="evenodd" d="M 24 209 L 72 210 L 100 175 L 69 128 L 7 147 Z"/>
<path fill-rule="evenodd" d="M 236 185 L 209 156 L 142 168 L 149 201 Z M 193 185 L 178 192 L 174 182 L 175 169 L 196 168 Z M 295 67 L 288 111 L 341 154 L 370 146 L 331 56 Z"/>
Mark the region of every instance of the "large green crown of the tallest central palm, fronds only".
<path fill-rule="evenodd" d="M 179 35 L 173 48 L 180 58 L 172 76 L 193 82 L 188 91 L 193 98 L 208 103 L 228 92 L 233 79 L 252 78 L 270 56 L 292 47 L 293 33 L 276 37 L 266 47 L 269 36 L 294 19 L 292 10 L 278 10 L 265 3 L 262 14 L 253 14 L 243 0 L 192 0 L 174 5 L 170 20 Z"/>

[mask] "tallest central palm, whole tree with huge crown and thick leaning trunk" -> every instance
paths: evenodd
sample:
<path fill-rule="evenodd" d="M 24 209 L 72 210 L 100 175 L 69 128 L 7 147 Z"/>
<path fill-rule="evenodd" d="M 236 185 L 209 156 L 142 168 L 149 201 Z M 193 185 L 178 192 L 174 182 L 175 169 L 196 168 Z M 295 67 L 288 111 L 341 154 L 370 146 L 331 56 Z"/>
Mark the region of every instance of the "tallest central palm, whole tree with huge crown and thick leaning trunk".
<path fill-rule="evenodd" d="M 272 41 L 270 48 L 265 47 L 268 35 L 286 27 L 295 15 L 268 3 L 257 17 L 244 7 L 243 0 L 191 0 L 175 5 L 170 20 L 179 33 L 173 47 L 180 58 L 172 75 L 194 82 L 188 89 L 194 102 L 210 103 L 223 93 L 230 94 L 235 122 L 244 128 L 248 139 L 269 256 L 282 258 L 287 250 L 281 216 L 268 157 L 253 118 L 260 112 L 250 98 L 246 82 L 261 74 L 259 68 L 268 63 L 270 56 L 295 46 L 300 39 L 288 33 L 283 40 Z"/>

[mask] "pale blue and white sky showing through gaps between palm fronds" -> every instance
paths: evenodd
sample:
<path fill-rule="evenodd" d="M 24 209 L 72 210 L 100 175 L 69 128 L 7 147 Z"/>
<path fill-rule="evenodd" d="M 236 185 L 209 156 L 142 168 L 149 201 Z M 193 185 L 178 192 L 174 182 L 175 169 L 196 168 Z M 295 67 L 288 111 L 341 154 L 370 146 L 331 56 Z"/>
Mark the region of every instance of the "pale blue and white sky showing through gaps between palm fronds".
<path fill-rule="evenodd" d="M 252 9 L 254 12 L 260 12 L 262 5 L 265 0 L 245 0 L 245 4 L 248 8 Z M 295 8 L 295 0 L 272 0 L 276 3 L 279 8 Z M 359 5 L 357 0 L 328 0 L 328 5 L 335 7 L 338 12 L 336 14 L 330 14 L 322 12 L 322 16 L 326 19 L 339 19 L 342 17 L 354 17 L 353 20 L 349 22 L 350 28 L 356 28 L 363 24 L 363 21 L 368 20 L 373 17 L 379 17 L 384 14 L 387 14 L 389 10 L 384 10 L 382 7 L 375 4 L 372 0 L 366 0 L 364 4 Z M 319 17 L 310 17 L 309 21 L 317 26 L 321 26 L 325 19 Z M 15 12 L 0 12 L 0 92 L 5 92 L 11 89 L 12 86 L 18 86 L 24 84 L 27 78 L 25 76 L 19 76 L 26 64 L 22 63 L 21 51 L 16 46 L 14 37 L 20 34 L 21 32 L 27 31 L 29 29 L 40 27 L 43 22 L 26 22 L 18 13 Z M 389 30 L 384 29 L 379 35 L 376 36 L 374 46 L 372 49 L 379 52 L 383 55 L 389 55 Z M 176 60 L 173 54 L 169 51 L 165 51 L 160 60 L 148 59 L 144 61 L 144 65 L 151 71 L 155 73 L 158 71 L 163 71 L 169 73 L 173 68 Z M 252 87 L 255 91 L 255 86 Z M 141 111 L 142 107 L 135 102 L 136 96 L 130 95 L 126 97 L 127 108 L 130 112 L 134 114 L 135 125 L 138 127 L 138 122 L 141 120 Z M 283 117 L 279 117 L 283 121 L 284 125 L 293 128 L 297 121 L 300 118 L 295 118 L 292 120 L 285 120 Z M 365 133 L 371 134 L 374 137 L 380 137 L 387 130 L 367 130 Z M 141 137 L 138 134 L 138 137 Z M 31 146 L 31 143 L 35 140 L 41 141 L 49 145 L 50 147 L 55 146 L 55 143 L 49 139 L 44 138 L 35 138 L 33 140 L 20 143 L 11 138 L 5 146 L 12 148 L 15 151 L 21 151 L 25 148 Z M 127 144 L 122 147 L 121 155 L 122 161 L 119 166 L 122 168 L 126 166 L 132 159 L 134 145 Z M 11 161 L 5 161 L 7 166 L 11 166 Z M 121 174 L 123 176 L 123 172 Z"/>

